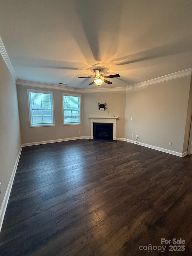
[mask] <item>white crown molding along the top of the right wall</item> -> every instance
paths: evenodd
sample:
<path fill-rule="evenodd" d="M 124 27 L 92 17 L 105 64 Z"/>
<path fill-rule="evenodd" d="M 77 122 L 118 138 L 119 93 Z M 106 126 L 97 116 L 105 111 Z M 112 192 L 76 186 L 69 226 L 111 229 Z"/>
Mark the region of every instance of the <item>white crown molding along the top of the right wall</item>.
<path fill-rule="evenodd" d="M 190 76 L 191 72 L 192 72 L 192 68 L 188 68 L 188 69 L 184 69 L 182 71 L 178 71 L 178 72 L 168 74 L 168 75 L 165 75 L 165 76 L 162 76 L 162 77 L 157 77 L 157 78 L 145 81 L 145 82 L 136 83 L 136 84 L 127 86 L 126 91 L 141 88 L 141 87 L 148 86 L 148 85 L 155 84 L 155 83 L 161 83 L 161 82 L 176 79 L 176 78 L 179 78 L 179 77 Z"/>

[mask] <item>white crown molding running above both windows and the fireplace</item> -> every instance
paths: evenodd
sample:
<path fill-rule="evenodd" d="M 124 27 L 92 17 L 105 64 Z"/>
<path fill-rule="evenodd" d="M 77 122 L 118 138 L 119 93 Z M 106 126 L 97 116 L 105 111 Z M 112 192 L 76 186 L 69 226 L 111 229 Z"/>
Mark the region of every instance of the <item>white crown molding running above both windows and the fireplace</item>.
<path fill-rule="evenodd" d="M 79 89 L 74 87 L 60 86 L 60 85 L 54 85 L 54 84 L 48 84 L 48 83 L 38 83 L 38 82 L 32 82 L 32 81 L 26 81 L 26 80 L 17 80 L 16 84 L 22 85 L 22 86 L 56 89 L 56 90 L 68 91 L 68 92 L 81 92 L 81 93 L 98 92 L 98 88 Z M 126 88 L 125 87 L 100 88 L 100 92 L 118 92 L 118 91 L 119 92 L 126 91 Z"/>

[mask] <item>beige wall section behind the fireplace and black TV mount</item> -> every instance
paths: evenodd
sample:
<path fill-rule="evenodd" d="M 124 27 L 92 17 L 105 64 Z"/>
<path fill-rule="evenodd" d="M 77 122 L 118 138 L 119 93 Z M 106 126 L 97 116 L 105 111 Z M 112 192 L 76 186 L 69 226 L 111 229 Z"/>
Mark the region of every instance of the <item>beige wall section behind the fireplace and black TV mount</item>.
<path fill-rule="evenodd" d="M 84 135 L 91 135 L 91 122 L 88 116 L 119 116 L 117 119 L 116 137 L 124 138 L 125 133 L 125 99 L 126 92 L 84 93 Z M 98 102 L 106 102 L 108 111 L 98 110 Z"/>

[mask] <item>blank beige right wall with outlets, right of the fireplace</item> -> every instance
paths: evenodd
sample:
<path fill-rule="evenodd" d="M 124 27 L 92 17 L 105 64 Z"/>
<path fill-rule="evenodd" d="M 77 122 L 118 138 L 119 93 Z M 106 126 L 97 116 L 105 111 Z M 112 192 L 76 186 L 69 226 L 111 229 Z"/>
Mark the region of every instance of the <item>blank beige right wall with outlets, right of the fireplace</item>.
<path fill-rule="evenodd" d="M 125 138 L 183 152 L 189 90 L 190 76 L 127 91 Z"/>

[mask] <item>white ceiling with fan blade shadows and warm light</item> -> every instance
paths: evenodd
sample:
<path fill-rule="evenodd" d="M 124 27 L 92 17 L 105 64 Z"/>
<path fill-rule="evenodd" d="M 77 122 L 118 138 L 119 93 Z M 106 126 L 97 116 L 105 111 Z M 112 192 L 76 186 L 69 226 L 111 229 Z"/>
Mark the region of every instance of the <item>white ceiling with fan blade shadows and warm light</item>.
<path fill-rule="evenodd" d="M 0 24 L 21 80 L 95 88 L 77 77 L 96 65 L 123 87 L 192 67 L 191 0 L 0 0 Z"/>

